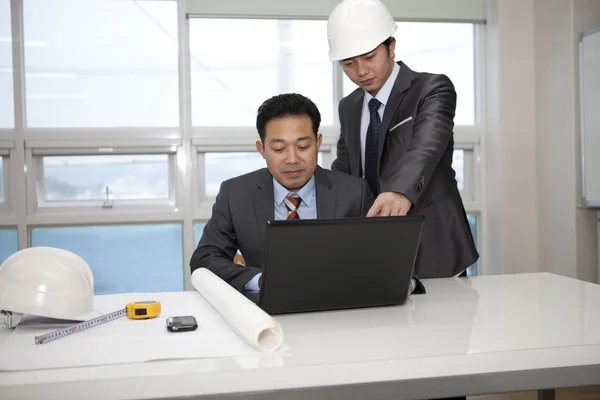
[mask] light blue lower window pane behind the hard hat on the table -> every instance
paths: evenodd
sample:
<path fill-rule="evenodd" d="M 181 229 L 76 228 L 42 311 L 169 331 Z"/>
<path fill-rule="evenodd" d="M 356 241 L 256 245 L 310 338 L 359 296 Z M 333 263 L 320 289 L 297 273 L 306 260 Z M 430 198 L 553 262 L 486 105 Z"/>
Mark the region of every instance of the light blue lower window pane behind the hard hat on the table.
<path fill-rule="evenodd" d="M 82 257 L 94 274 L 95 294 L 183 290 L 179 224 L 34 228 L 31 242 Z"/>

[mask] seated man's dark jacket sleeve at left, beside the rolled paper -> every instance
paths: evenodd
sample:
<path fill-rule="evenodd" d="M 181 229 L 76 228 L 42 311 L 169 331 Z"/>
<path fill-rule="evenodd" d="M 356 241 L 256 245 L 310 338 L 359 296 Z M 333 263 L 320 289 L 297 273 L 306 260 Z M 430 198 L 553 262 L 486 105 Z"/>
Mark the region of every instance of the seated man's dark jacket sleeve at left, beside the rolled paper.
<path fill-rule="evenodd" d="M 207 268 L 242 292 L 244 285 L 261 271 L 233 262 L 238 247 L 229 210 L 227 185 L 224 182 L 213 205 L 212 216 L 204 227 L 202 238 L 190 260 L 191 272 L 198 268 Z"/>

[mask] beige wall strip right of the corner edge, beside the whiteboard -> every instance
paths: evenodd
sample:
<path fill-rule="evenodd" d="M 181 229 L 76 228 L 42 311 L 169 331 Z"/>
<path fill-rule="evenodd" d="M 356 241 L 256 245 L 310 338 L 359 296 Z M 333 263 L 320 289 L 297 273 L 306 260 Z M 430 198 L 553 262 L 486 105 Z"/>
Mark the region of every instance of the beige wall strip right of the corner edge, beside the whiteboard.
<path fill-rule="evenodd" d="M 572 1 L 534 3 L 540 267 L 576 277 L 577 99 Z"/>

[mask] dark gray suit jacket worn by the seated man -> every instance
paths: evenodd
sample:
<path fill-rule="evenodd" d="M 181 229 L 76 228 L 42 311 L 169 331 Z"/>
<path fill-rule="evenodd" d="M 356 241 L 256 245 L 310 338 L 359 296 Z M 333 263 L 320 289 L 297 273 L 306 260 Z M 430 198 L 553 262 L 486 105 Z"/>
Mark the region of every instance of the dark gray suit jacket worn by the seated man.
<path fill-rule="evenodd" d="M 373 193 L 364 179 L 317 167 L 317 218 L 365 216 Z M 266 225 L 275 219 L 273 177 L 266 168 L 221 184 L 190 266 L 207 268 L 240 292 L 261 271 Z M 233 263 L 237 250 L 246 266 Z"/>

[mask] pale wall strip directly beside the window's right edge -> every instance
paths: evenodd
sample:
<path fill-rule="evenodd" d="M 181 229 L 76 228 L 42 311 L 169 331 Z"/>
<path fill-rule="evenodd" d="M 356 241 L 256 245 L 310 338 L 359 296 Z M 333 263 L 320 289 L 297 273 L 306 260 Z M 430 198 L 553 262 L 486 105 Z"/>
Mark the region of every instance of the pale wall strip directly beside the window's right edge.
<path fill-rule="evenodd" d="M 533 2 L 492 0 L 488 12 L 486 272 L 535 272 L 539 262 Z"/>

